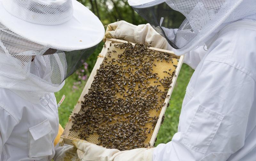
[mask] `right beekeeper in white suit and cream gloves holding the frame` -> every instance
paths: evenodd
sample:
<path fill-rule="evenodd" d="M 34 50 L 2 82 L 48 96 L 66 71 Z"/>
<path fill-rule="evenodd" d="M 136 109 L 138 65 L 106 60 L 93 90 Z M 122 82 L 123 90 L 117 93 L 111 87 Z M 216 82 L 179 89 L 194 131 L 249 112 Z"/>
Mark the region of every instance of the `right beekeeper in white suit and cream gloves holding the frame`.
<path fill-rule="evenodd" d="M 195 69 L 178 132 L 169 143 L 150 149 L 119 151 L 74 142 L 78 157 L 83 161 L 255 161 L 256 1 L 128 2 L 150 25 L 118 21 L 108 25 L 106 38 L 173 50 L 184 54 L 185 63 Z M 186 17 L 179 29 L 170 29 L 171 10 Z"/>

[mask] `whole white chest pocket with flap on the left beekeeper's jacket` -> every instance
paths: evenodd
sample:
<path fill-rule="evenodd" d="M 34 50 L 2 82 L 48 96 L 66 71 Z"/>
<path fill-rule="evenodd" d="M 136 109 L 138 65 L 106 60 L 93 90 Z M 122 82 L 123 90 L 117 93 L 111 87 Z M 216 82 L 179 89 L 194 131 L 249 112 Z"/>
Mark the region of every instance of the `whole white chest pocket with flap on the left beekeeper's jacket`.
<path fill-rule="evenodd" d="M 48 119 L 29 128 L 29 157 L 44 157 L 52 155 L 52 127 Z"/>

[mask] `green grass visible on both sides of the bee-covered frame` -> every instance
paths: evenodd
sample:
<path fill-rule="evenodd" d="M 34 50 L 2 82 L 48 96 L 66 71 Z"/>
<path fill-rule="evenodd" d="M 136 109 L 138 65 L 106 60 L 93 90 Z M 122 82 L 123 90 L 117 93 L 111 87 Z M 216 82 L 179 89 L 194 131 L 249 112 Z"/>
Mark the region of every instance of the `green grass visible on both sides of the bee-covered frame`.
<path fill-rule="evenodd" d="M 95 57 L 95 55 L 93 57 Z M 96 60 L 94 63 L 95 62 Z M 93 64 L 89 64 L 89 68 L 93 68 Z M 172 136 L 177 132 L 182 101 L 186 92 L 186 87 L 193 72 L 194 70 L 188 65 L 182 65 L 178 80 L 172 92 L 170 106 L 165 112 L 164 123 L 160 127 L 157 135 L 156 145 L 159 143 L 168 143 L 172 140 Z M 83 81 L 79 89 L 74 91 L 72 89 L 74 82 L 76 82 L 75 75 L 71 75 L 66 79 L 66 84 L 64 87 L 59 92 L 55 93 L 57 101 L 60 101 L 63 94 L 66 95 L 66 99 L 59 108 L 60 124 L 63 127 L 65 127 L 66 123 L 68 122 L 68 117 L 70 113 L 72 113 L 73 108 L 83 91 L 84 85 L 86 84 L 86 82 Z"/>

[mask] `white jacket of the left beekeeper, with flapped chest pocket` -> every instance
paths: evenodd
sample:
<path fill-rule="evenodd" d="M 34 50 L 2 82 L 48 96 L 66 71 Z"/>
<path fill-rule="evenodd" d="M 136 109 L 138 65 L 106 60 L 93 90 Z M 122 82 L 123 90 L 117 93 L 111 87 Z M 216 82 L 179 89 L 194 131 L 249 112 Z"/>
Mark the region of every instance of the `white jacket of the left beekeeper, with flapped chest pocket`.
<path fill-rule="evenodd" d="M 0 88 L 0 161 L 51 161 L 54 157 L 59 129 L 54 93 L 41 101 L 30 103 Z"/>

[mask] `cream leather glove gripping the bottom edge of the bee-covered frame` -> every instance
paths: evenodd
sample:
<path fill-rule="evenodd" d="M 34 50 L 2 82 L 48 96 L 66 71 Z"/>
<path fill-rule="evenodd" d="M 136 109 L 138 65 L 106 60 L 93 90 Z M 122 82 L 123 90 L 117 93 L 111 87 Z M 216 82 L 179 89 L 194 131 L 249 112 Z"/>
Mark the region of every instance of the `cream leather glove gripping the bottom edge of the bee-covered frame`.
<path fill-rule="evenodd" d="M 92 143 L 74 140 L 77 155 L 83 161 L 152 161 L 154 148 L 138 148 L 119 151 L 106 149 Z"/>

